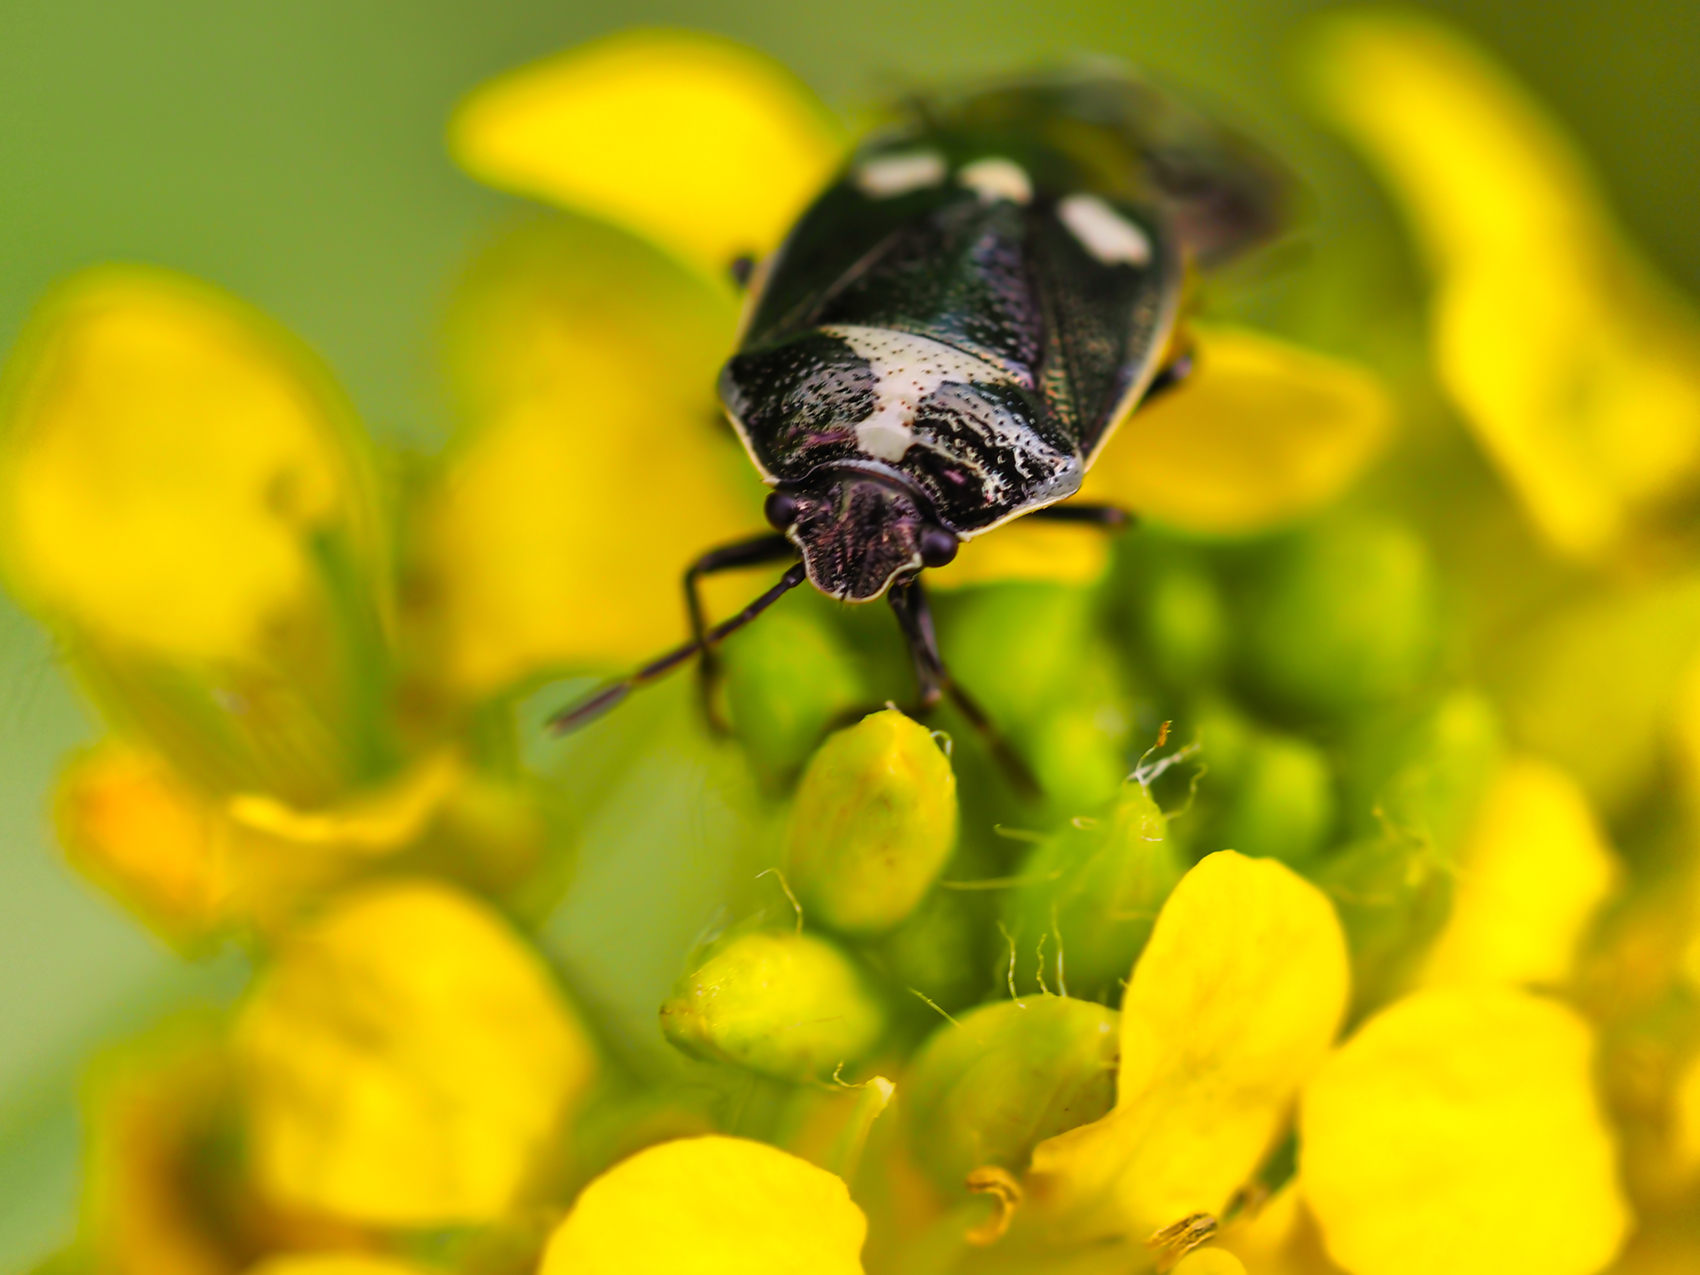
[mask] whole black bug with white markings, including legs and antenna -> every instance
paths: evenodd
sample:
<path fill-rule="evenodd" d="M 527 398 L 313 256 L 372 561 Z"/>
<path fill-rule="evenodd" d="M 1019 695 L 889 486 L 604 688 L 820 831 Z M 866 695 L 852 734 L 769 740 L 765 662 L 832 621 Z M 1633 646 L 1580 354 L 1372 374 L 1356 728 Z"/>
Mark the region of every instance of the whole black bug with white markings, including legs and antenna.
<path fill-rule="evenodd" d="M 1284 190 L 1258 150 L 1119 68 L 908 104 L 779 252 L 740 264 L 750 298 L 719 393 L 774 488 L 774 532 L 690 568 L 692 643 L 554 724 L 711 654 L 808 580 L 845 602 L 887 597 L 921 706 L 949 694 L 996 741 L 938 656 L 921 573 L 1023 515 L 1125 522 L 1059 502 L 1185 376 L 1188 269 L 1268 238 Z M 799 558 L 707 624 L 704 575 Z"/>

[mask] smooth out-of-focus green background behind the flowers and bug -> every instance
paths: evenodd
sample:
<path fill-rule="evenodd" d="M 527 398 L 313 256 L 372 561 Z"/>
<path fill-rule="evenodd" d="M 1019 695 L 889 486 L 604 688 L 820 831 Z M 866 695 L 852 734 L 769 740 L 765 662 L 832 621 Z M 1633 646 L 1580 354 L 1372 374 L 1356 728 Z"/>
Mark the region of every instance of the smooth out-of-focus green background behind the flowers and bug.
<path fill-rule="evenodd" d="M 853 107 L 894 87 L 1102 51 L 1193 85 L 1304 172 L 1314 240 L 1389 212 L 1290 92 L 1302 0 L 5 0 L 0 5 L 0 340 L 90 262 L 156 262 L 306 337 L 381 435 L 428 444 L 440 303 L 515 201 L 442 153 L 459 94 L 629 24 L 748 41 Z M 1452 0 L 1591 156 L 1630 233 L 1700 294 L 1700 5 Z M 230 964 L 184 967 L 53 850 L 56 756 L 90 734 L 44 634 L 0 600 L 0 1268 L 75 1210 L 80 1062 Z"/>

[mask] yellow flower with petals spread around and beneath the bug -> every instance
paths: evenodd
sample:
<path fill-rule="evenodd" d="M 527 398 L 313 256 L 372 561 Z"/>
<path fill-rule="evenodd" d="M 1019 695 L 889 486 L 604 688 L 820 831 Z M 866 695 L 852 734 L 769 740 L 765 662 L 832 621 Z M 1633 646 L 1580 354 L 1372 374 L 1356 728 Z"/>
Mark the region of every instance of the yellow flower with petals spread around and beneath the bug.
<path fill-rule="evenodd" d="M 777 246 L 842 163 L 828 121 L 768 60 L 688 32 L 592 42 L 461 104 L 450 146 L 468 172 L 690 267 L 556 221 L 474 274 L 456 325 L 471 369 L 461 456 L 418 542 L 428 595 L 450 612 L 442 660 L 466 690 L 677 641 L 685 564 L 760 530 L 762 486 L 714 423 L 712 372 L 736 323 L 728 267 Z M 1386 440 L 1391 410 L 1367 372 L 1255 333 L 1200 333 L 1197 384 L 1124 427 L 1085 498 L 1238 534 L 1333 498 Z M 1091 580 L 1105 561 L 1102 537 L 1020 524 L 935 576 Z"/>

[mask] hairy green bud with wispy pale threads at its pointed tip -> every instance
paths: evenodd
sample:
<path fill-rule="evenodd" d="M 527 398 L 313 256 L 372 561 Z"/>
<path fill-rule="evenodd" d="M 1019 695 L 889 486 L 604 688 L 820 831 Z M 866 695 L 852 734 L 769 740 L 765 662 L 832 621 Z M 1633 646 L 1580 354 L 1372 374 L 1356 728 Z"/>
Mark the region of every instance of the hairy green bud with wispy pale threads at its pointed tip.
<path fill-rule="evenodd" d="M 1044 979 L 1090 1000 L 1119 996 L 1182 872 L 1168 819 L 1127 780 L 1107 823 L 1069 824 L 1022 864 L 1005 910 L 1018 986 Z"/>

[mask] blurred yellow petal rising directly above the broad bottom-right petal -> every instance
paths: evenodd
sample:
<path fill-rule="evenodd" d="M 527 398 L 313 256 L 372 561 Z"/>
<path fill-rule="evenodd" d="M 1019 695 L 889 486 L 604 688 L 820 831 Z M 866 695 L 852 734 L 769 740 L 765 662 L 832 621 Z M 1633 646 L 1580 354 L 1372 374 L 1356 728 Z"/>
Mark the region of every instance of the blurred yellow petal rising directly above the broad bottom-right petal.
<path fill-rule="evenodd" d="M 1452 916 L 1425 979 L 1566 983 L 1617 879 L 1617 857 L 1576 780 L 1545 762 L 1511 762 L 1460 852 Z"/>

